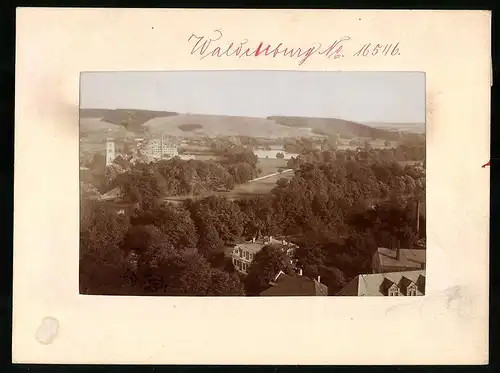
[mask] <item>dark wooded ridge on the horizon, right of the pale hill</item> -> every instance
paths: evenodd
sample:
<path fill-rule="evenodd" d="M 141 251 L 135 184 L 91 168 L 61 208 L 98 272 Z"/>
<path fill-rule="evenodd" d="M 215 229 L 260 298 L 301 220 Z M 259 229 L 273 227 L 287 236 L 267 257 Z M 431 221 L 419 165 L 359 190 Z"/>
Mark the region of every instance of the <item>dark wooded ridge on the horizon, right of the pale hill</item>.
<path fill-rule="evenodd" d="M 372 137 L 382 140 L 398 140 L 399 133 L 385 129 L 373 128 L 361 123 L 336 118 L 306 118 L 306 117 L 268 117 L 283 126 L 291 128 L 310 128 L 313 133 L 335 135 L 342 137 Z"/>

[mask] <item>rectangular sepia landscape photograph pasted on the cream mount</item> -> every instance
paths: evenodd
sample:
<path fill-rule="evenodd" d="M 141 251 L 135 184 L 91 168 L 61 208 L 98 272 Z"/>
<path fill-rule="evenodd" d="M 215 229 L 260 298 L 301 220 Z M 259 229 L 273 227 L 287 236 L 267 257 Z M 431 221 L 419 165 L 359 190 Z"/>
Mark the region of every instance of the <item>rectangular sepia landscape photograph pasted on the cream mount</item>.
<path fill-rule="evenodd" d="M 82 72 L 80 293 L 425 295 L 425 86 Z"/>

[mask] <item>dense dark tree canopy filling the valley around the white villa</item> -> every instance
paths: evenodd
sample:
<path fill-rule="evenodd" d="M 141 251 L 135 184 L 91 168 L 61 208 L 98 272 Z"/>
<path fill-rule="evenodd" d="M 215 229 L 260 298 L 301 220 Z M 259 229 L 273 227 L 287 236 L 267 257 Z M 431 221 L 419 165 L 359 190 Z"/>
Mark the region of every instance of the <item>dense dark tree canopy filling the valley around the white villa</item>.
<path fill-rule="evenodd" d="M 235 201 L 210 196 L 185 206 L 160 202 L 162 194 L 197 195 L 253 177 L 257 159 L 244 148 L 225 150 L 232 153 L 222 163 L 174 158 L 118 173 L 112 186 L 136 209 L 118 215 L 103 201 L 82 204 L 81 291 L 257 295 L 279 270 L 302 269 L 320 276 L 335 293 L 357 274 L 370 272 L 377 246 L 423 242 L 425 168 L 395 161 L 422 161 L 425 154 L 417 145 L 313 151 L 307 141 L 298 144 L 309 150 L 289 162 L 295 169 L 291 179 L 280 179 L 267 195 Z M 288 236 L 299 248 L 290 258 L 279 247 L 266 246 L 243 286 L 222 250 L 264 235 Z"/>

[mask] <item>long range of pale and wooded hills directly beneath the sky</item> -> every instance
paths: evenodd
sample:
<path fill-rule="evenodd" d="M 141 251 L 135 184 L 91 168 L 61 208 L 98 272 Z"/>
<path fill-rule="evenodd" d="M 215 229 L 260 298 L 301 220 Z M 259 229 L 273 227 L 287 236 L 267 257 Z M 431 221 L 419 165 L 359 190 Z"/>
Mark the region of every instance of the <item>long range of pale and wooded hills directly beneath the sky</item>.
<path fill-rule="evenodd" d="M 135 109 L 80 109 L 83 132 L 108 131 L 165 132 L 172 136 L 308 137 L 335 135 L 345 138 L 371 137 L 400 140 L 405 129 L 392 125 L 381 128 L 336 118 L 271 116 L 268 118 L 225 115 L 179 114 Z M 376 128 L 378 127 L 378 128 Z M 405 135 L 406 136 L 406 135 Z"/>

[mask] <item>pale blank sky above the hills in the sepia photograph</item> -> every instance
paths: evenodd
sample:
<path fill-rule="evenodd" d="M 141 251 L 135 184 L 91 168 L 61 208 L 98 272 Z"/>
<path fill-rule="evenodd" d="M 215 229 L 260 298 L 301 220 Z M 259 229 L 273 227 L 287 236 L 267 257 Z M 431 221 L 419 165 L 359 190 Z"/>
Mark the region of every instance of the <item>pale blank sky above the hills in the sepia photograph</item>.
<path fill-rule="evenodd" d="M 425 123 L 421 72 L 86 72 L 80 107 Z"/>

